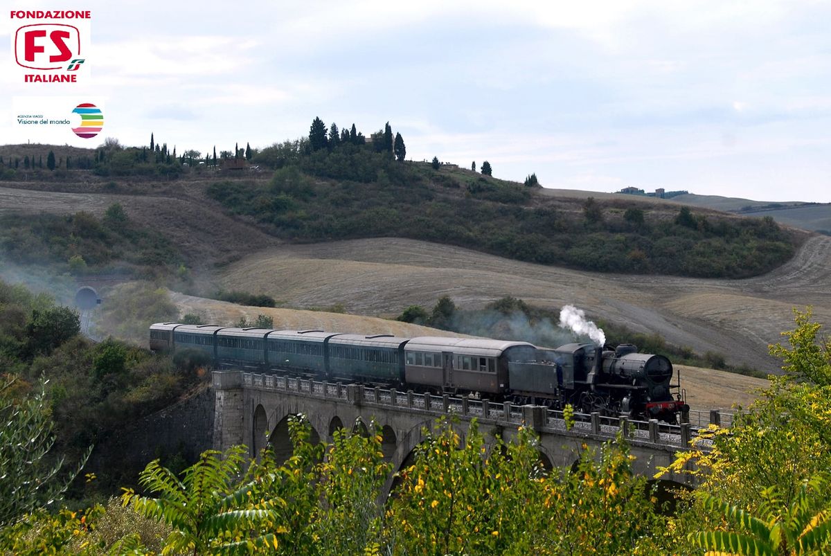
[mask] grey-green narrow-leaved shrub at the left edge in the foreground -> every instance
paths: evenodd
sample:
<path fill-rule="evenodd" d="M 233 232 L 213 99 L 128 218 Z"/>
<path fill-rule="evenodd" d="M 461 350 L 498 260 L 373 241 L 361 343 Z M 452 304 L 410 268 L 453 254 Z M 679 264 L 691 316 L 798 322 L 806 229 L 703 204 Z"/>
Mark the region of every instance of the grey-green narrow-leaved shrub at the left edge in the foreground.
<path fill-rule="evenodd" d="M 0 525 L 36 508 L 52 504 L 81 471 L 90 450 L 76 469 L 67 469 L 52 452 L 54 422 L 47 401 L 47 381 L 31 396 L 14 395 L 14 378 L 0 384 Z"/>

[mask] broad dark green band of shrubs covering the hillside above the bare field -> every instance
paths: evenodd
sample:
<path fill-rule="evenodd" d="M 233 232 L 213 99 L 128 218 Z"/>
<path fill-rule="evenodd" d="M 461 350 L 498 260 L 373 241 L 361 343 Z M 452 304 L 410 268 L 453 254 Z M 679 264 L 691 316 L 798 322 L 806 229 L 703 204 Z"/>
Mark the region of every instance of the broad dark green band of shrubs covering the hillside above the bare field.
<path fill-rule="evenodd" d="M 796 244 L 760 219 L 710 217 L 693 229 L 652 211 L 638 224 L 638 209 L 627 217 L 595 199 L 535 199 L 533 188 L 398 164 L 352 143 L 288 150 L 269 186 L 219 182 L 208 194 L 284 239 L 406 237 L 597 272 L 740 278 L 781 264 Z"/>

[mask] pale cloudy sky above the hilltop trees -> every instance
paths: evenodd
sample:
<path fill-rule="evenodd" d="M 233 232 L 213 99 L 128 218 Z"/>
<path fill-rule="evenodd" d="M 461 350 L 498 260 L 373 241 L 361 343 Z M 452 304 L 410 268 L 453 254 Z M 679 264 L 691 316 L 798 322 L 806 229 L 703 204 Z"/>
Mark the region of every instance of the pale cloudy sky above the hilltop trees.
<path fill-rule="evenodd" d="M 122 144 L 230 150 L 315 116 L 365 135 L 389 121 L 407 158 L 489 160 L 508 180 L 831 201 L 829 2 L 59 3 L 12 7 L 91 10 L 81 91 L 106 98 L 102 135 Z M 2 138 L 12 96 L 79 92 L 13 63 Z"/>

